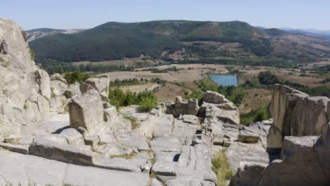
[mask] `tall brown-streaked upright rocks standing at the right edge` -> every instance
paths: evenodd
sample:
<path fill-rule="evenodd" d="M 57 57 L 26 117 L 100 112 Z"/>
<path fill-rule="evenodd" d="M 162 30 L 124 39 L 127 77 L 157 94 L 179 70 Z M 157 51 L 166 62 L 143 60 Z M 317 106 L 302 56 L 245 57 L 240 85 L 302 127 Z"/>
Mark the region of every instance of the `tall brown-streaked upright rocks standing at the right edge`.
<path fill-rule="evenodd" d="M 285 136 L 321 135 L 329 122 L 326 109 L 329 101 L 326 97 L 309 97 L 285 85 L 275 85 L 270 107 L 274 122 L 267 139 L 269 151 L 280 150 Z"/>

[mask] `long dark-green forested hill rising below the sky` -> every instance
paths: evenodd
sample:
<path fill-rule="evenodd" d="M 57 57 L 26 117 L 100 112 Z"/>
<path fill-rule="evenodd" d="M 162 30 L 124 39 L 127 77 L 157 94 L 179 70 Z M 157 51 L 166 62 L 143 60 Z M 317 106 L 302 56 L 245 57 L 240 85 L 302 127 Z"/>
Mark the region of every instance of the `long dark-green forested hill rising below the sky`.
<path fill-rule="evenodd" d="M 306 62 L 329 56 L 330 41 L 278 29 L 260 30 L 239 21 L 157 20 L 109 22 L 29 43 L 36 59 L 59 62 L 152 58 L 281 58 Z"/>

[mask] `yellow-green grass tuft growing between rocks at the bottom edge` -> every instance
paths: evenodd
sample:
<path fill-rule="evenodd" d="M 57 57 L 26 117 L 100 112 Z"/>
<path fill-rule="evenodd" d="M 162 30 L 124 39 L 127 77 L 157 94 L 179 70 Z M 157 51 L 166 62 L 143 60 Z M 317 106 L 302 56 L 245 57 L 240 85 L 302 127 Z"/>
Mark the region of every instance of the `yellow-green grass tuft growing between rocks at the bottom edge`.
<path fill-rule="evenodd" d="M 216 153 L 214 159 L 212 159 L 212 171 L 216 174 L 219 186 L 226 185 L 226 180 L 231 180 L 234 173 L 231 170 L 231 165 L 226 158 L 226 150 L 222 150 Z"/>

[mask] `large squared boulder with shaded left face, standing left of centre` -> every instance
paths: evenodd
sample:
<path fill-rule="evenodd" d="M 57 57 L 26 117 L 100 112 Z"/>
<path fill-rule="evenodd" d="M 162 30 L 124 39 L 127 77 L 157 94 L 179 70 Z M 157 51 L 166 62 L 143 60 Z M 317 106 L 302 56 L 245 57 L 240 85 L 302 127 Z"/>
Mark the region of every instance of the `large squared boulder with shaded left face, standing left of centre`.
<path fill-rule="evenodd" d="M 80 97 L 74 97 L 68 107 L 70 125 L 75 128 L 82 127 L 91 132 L 104 123 L 102 99 L 95 89 Z"/>

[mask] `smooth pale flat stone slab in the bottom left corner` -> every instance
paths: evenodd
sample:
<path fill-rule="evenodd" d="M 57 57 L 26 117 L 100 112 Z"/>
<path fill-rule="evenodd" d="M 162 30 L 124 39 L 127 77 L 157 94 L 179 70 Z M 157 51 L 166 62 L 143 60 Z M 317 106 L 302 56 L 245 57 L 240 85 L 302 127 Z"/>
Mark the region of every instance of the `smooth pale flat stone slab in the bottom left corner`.
<path fill-rule="evenodd" d="M 0 185 L 147 185 L 148 174 L 76 166 L 0 149 Z"/>

